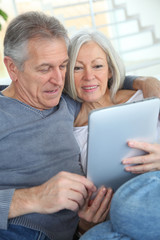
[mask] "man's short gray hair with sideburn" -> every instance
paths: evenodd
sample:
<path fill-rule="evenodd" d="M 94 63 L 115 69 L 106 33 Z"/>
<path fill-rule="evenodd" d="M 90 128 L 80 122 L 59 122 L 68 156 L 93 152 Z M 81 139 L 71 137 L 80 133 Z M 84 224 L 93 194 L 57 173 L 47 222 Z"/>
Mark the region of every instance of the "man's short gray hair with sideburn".
<path fill-rule="evenodd" d="M 4 38 L 4 56 L 13 59 L 19 70 L 28 58 L 28 41 L 33 38 L 62 38 L 68 47 L 67 30 L 53 16 L 41 12 L 26 12 L 18 15 L 9 24 Z"/>

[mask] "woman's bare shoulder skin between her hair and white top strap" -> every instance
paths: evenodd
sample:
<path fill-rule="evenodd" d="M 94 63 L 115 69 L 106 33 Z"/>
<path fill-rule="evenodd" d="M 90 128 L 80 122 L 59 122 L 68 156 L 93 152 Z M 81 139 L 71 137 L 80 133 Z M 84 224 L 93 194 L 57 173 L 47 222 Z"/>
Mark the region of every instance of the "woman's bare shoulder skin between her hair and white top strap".
<path fill-rule="evenodd" d="M 119 90 L 119 91 L 116 93 L 115 101 L 116 101 L 117 104 L 125 103 L 125 102 L 127 102 L 135 93 L 136 93 L 136 91 L 134 91 L 134 90 Z"/>

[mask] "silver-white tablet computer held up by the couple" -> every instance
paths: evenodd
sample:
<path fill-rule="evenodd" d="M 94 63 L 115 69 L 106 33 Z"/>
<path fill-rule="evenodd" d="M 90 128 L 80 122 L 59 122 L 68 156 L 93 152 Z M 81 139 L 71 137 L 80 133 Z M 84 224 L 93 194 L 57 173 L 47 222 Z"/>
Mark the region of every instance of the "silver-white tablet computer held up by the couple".
<path fill-rule="evenodd" d="M 97 187 L 102 185 L 116 190 L 130 178 L 122 159 L 145 154 L 131 149 L 128 140 L 153 143 L 157 139 L 160 99 L 150 98 L 138 102 L 93 110 L 89 115 L 87 177 Z"/>

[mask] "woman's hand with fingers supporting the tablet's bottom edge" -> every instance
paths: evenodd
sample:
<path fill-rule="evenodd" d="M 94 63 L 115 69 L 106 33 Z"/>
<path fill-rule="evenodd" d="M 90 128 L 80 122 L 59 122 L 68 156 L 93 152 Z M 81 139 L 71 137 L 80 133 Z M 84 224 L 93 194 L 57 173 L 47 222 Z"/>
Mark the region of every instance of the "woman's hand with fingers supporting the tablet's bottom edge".
<path fill-rule="evenodd" d="M 101 187 L 93 200 L 91 200 L 91 194 L 89 193 L 85 205 L 78 212 L 80 217 L 79 231 L 81 233 L 106 220 L 113 191 L 110 188 Z"/>

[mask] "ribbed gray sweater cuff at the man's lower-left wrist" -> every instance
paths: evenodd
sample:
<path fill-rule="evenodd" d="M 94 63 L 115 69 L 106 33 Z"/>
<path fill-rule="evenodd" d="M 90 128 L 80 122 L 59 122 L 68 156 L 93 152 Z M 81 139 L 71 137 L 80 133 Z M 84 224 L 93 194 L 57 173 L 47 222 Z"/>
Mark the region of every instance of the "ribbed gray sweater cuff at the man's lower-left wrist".
<path fill-rule="evenodd" d="M 8 213 L 15 189 L 0 190 L 0 229 L 7 229 Z"/>

